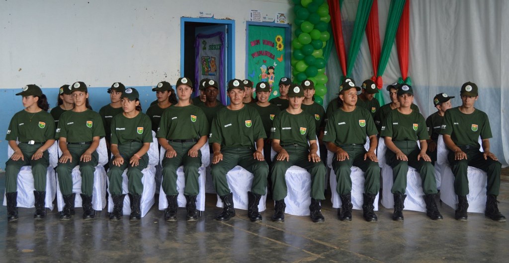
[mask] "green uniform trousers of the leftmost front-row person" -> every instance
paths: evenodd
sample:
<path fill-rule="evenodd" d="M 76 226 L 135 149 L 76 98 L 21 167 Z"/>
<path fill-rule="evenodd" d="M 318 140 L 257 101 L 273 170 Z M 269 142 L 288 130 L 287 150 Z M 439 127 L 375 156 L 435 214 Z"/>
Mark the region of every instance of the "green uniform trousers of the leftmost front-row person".
<path fill-rule="evenodd" d="M 18 144 L 24 160 L 14 161 L 10 159 L 5 163 L 5 191 L 12 193 L 17 191 L 18 173 L 22 166 L 32 165 L 32 174 L 34 175 L 34 187 L 36 191 L 46 191 L 46 174 L 49 166 L 49 153 L 44 151 L 39 160 L 32 160 L 32 155 L 44 143 L 27 144 L 20 142 Z"/>

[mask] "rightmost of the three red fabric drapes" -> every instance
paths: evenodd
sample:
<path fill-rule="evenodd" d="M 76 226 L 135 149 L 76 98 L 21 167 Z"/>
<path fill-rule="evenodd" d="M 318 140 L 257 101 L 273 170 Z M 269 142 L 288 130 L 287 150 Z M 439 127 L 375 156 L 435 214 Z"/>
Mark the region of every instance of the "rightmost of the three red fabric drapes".
<path fill-rule="evenodd" d="M 403 13 L 401 14 L 400 25 L 396 33 L 396 45 L 398 48 L 398 61 L 400 62 L 401 76 L 404 81 L 408 77 L 408 48 L 410 38 L 410 0 L 407 0 Z"/>

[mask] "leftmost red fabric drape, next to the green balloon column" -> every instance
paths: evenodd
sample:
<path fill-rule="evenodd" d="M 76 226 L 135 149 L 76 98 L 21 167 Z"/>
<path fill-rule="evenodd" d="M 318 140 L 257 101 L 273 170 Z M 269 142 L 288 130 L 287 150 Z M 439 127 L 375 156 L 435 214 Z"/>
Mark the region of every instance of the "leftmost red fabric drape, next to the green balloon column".
<path fill-rule="evenodd" d="M 341 22 L 340 1 L 328 0 L 330 23 L 332 25 L 332 37 L 336 46 L 337 56 L 340 61 L 343 76 L 347 74 L 347 59 L 345 51 L 345 41 L 343 40 L 343 27 Z"/>

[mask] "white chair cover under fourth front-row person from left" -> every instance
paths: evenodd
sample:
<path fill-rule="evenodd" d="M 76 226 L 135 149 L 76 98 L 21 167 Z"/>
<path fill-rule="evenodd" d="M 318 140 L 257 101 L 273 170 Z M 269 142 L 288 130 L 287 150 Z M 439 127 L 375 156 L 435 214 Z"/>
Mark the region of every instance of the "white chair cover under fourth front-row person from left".
<path fill-rule="evenodd" d="M 200 149 L 202 152 L 202 166 L 198 168 L 198 172 L 200 173 L 200 177 L 198 177 L 198 184 L 200 186 L 200 193 L 196 196 L 196 209 L 199 211 L 205 211 L 205 170 L 206 167 L 210 165 L 210 152 L 209 152 L 209 141 L 202 146 Z M 160 160 L 162 165 L 162 160 L 164 159 L 164 154 L 166 154 L 166 150 L 161 147 Z M 177 169 L 177 191 L 179 195 L 177 196 L 177 202 L 179 207 L 186 207 L 186 197 L 184 196 L 184 188 L 185 188 L 185 176 L 184 176 L 184 166 L 180 166 Z M 159 189 L 159 210 L 165 210 L 168 207 L 168 200 L 166 199 L 166 194 L 164 190 Z"/>

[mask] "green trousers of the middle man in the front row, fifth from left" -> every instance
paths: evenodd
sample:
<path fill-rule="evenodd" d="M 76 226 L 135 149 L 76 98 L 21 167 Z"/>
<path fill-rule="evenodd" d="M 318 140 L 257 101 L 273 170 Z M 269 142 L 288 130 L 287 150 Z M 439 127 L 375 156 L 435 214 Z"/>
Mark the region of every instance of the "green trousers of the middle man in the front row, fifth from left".
<path fill-rule="evenodd" d="M 211 166 L 214 189 L 219 196 L 232 192 L 228 186 L 226 174 L 237 165 L 253 174 L 251 192 L 259 195 L 266 194 L 269 165 L 265 161 L 254 159 L 253 153 L 254 150 L 250 148 L 229 148 L 221 152 L 222 161 Z"/>

